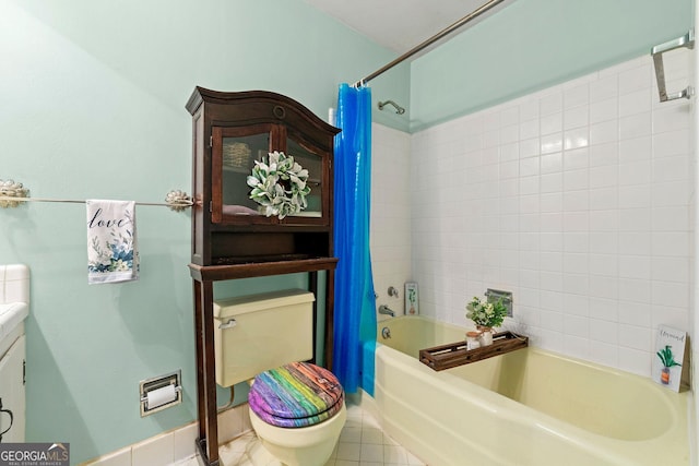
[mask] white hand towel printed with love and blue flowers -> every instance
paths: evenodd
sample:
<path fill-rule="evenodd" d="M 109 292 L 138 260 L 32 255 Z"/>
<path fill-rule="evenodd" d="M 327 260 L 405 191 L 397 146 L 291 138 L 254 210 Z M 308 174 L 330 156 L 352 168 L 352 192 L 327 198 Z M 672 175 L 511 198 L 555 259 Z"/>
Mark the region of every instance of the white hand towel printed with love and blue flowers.
<path fill-rule="evenodd" d="M 135 202 L 87 200 L 87 283 L 139 279 Z"/>

